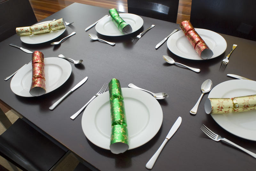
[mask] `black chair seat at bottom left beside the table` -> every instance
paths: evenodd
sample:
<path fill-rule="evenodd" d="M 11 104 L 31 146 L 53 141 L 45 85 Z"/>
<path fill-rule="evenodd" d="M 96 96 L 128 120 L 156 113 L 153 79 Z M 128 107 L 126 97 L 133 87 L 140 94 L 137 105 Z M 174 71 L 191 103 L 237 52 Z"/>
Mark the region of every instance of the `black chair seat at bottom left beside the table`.
<path fill-rule="evenodd" d="M 46 171 L 66 152 L 19 118 L 0 136 L 0 153 L 21 169 Z"/>

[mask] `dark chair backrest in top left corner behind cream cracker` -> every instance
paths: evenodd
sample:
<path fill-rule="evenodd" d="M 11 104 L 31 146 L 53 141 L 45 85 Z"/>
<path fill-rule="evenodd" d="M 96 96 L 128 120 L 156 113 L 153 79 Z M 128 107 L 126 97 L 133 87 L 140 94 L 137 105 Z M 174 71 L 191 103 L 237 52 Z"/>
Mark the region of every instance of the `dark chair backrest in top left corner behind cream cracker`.
<path fill-rule="evenodd" d="M 0 42 L 16 33 L 16 27 L 31 26 L 37 22 L 28 0 L 0 1 Z"/>

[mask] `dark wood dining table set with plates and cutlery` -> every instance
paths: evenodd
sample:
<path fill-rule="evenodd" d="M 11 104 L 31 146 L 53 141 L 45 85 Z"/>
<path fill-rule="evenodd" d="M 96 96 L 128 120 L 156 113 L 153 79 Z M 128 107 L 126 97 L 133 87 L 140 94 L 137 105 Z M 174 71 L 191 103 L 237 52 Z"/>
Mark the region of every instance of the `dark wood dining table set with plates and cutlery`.
<path fill-rule="evenodd" d="M 256 80 L 256 42 L 220 34 L 227 42 L 227 49 L 223 54 L 209 60 L 190 60 L 173 54 L 166 43 L 155 49 L 156 44 L 173 29 L 180 30 L 179 24 L 176 23 L 141 16 L 144 21 L 143 27 L 131 35 L 104 36 L 97 33 L 95 27 L 88 31 L 84 30 L 106 14 L 108 9 L 74 3 L 42 20 L 63 18 L 68 22 L 74 21 L 72 26 L 67 26 L 66 31 L 52 41 L 26 44 L 21 42 L 19 36 L 13 35 L 0 42 L 1 103 L 11 107 L 38 129 L 60 142 L 91 169 L 147 170 L 146 163 L 162 144 L 175 120 L 181 116 L 180 128 L 166 144 L 152 170 L 255 170 L 255 158 L 230 145 L 211 140 L 200 130 L 200 126 L 205 124 L 221 136 L 256 153 L 255 141 L 229 133 L 220 127 L 211 115 L 204 112 L 207 94 L 202 98 L 196 115 L 191 115 L 189 111 L 201 95 L 201 84 L 207 79 L 212 80 L 213 87 L 221 82 L 233 80 L 227 77 L 227 74 L 242 75 Z M 131 37 L 152 24 L 156 26 L 134 44 Z M 50 44 L 73 31 L 76 31 L 76 35 L 62 44 Z M 110 46 L 107 43 L 93 41 L 89 38 L 89 33 L 115 42 L 116 45 Z M 21 97 L 10 89 L 11 79 L 4 81 L 4 78 L 28 63 L 31 54 L 11 47 L 9 43 L 30 51 L 42 51 L 45 58 L 63 54 L 74 59 L 83 59 L 84 62 L 79 65 L 71 63 L 72 73 L 67 82 L 58 89 L 39 97 Z M 223 69 L 220 63 L 233 44 L 238 46 L 231 54 L 228 65 Z M 200 68 L 201 72 L 196 73 L 168 64 L 162 58 L 163 55 L 172 57 L 176 62 Z M 88 80 L 84 85 L 70 94 L 53 111 L 49 110 L 49 106 L 85 76 L 88 76 Z M 113 154 L 90 142 L 82 130 L 82 114 L 75 120 L 69 118 L 98 92 L 104 82 L 109 82 L 112 78 L 117 78 L 122 87 L 134 83 L 153 92 L 169 94 L 167 99 L 158 100 L 163 110 L 163 122 L 158 133 L 146 144 L 122 154 Z M 256 127 L 252 129 L 256 130 Z"/>

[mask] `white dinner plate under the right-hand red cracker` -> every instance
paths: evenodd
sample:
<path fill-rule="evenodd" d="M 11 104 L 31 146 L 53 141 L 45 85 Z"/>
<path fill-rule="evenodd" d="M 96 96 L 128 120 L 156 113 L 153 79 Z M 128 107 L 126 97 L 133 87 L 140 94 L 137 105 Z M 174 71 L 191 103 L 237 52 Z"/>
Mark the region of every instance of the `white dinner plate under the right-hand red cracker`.
<path fill-rule="evenodd" d="M 202 37 L 204 42 L 212 50 L 212 58 L 220 56 L 227 48 L 226 40 L 211 30 L 202 28 L 195 28 L 196 32 Z M 167 40 L 168 49 L 175 55 L 192 60 L 206 60 L 202 59 L 195 51 L 193 46 L 189 43 L 187 37 L 182 30 L 177 31 L 171 35 Z M 210 59 L 212 59 L 210 58 Z"/>

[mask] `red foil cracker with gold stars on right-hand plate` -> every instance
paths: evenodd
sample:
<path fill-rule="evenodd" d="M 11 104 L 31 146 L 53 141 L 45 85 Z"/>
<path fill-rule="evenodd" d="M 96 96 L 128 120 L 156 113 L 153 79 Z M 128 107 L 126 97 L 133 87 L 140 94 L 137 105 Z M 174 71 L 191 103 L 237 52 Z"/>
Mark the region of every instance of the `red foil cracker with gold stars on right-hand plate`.
<path fill-rule="evenodd" d="M 182 21 L 180 23 L 180 28 L 201 58 L 209 59 L 212 57 L 212 50 L 207 46 L 200 35 L 198 35 L 190 21 Z"/>

